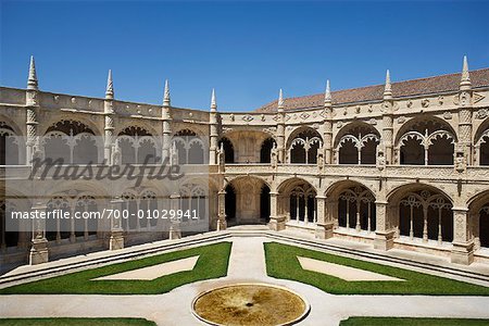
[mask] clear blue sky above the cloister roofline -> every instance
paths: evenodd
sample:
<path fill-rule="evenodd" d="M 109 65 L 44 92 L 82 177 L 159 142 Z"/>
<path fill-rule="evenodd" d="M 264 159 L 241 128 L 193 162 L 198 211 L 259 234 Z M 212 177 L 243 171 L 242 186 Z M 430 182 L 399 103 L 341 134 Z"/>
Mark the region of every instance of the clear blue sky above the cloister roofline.
<path fill-rule="evenodd" d="M 0 0 L 0 86 L 251 111 L 278 96 L 489 67 L 487 1 Z"/>

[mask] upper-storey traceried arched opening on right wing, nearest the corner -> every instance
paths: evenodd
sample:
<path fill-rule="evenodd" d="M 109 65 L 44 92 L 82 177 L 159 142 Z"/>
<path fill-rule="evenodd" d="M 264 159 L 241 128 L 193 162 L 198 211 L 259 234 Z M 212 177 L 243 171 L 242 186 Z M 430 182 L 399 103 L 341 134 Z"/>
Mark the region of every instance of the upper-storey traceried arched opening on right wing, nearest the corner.
<path fill-rule="evenodd" d="M 323 146 L 321 135 L 312 128 L 301 128 L 290 137 L 289 162 L 316 164 L 317 151 Z"/>

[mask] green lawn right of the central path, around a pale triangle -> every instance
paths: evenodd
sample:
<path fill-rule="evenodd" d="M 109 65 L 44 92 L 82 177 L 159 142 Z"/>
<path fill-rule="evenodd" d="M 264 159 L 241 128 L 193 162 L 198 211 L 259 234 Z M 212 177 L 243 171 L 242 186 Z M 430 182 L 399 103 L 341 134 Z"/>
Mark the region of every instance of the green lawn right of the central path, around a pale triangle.
<path fill-rule="evenodd" d="M 292 279 L 334 294 L 432 294 L 489 296 L 489 288 L 449 278 L 343 258 L 276 242 L 264 243 L 266 273 L 275 278 Z M 322 260 L 405 279 L 405 281 L 346 281 L 304 271 L 297 256 Z"/>

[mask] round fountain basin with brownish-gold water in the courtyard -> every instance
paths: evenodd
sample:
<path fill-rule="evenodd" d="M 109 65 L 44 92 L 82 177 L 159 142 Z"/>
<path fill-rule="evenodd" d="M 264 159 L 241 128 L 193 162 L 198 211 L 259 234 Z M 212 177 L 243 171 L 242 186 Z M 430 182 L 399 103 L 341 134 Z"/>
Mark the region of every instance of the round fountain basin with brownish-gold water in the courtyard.
<path fill-rule="evenodd" d="M 211 325 L 292 325 L 309 313 L 309 303 L 289 289 L 238 284 L 200 293 L 193 314 Z"/>

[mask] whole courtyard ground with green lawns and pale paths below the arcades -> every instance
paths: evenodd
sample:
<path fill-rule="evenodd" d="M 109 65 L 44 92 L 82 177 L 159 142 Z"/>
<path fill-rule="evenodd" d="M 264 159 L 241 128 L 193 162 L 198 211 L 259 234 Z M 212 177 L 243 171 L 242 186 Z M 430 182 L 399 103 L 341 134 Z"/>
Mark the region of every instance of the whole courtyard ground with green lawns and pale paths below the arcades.
<path fill-rule="evenodd" d="M 379 254 L 369 244 L 240 226 L 15 268 L 0 278 L 0 323 L 205 325 L 193 300 L 237 284 L 298 293 L 309 306 L 298 325 L 489 321 L 487 264 L 459 266 L 402 250 Z M 226 313 L 239 315 L 240 325 L 278 325 L 273 314 L 256 323 L 258 313 L 242 302 L 229 305 Z"/>

